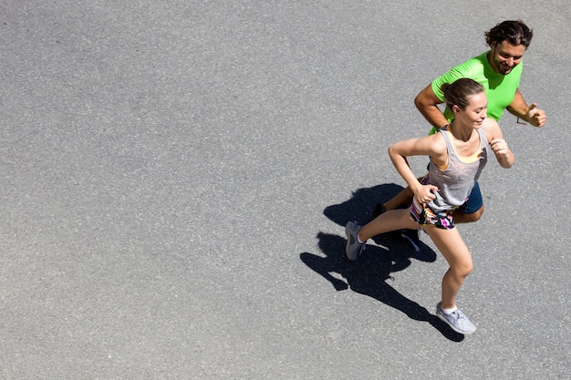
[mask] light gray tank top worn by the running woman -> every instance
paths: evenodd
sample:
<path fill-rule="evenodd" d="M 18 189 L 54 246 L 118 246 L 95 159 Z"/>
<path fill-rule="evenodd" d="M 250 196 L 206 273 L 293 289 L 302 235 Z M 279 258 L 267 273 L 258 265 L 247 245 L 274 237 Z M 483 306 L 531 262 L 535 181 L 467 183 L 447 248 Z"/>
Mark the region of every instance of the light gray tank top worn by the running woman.
<path fill-rule="evenodd" d="M 446 133 L 447 127 L 440 128 L 439 132 L 441 132 L 446 141 L 448 167 L 442 170 L 434 165 L 432 160 L 429 163 L 428 183 L 438 186 L 440 189 L 440 191 L 433 192 L 436 198 L 428 204 L 434 211 L 447 211 L 462 206 L 468 199 L 474 183 L 480 177 L 480 173 L 488 161 L 489 145 L 483 128 L 478 129 L 480 146 L 482 147 L 480 159 L 476 159 L 473 162 L 463 162 L 452 147 L 452 141 L 449 139 L 448 133 Z"/>

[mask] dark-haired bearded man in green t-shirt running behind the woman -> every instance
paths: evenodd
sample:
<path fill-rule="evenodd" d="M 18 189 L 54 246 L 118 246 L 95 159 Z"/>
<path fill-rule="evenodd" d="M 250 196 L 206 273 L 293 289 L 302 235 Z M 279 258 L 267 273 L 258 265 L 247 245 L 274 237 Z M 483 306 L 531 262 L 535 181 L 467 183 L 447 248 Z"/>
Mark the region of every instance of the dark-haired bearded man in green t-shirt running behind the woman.
<path fill-rule="evenodd" d="M 434 79 L 414 99 L 415 106 L 433 126 L 431 133 L 435 133 L 438 128 L 448 125 L 453 117 L 451 109 L 446 108 L 442 113 L 438 108 L 438 105 L 444 102 L 441 85 L 453 83 L 462 77 L 472 78 L 484 87 L 488 98 L 487 113 L 489 118 L 498 121 L 502 117 L 504 109 L 507 109 L 518 120 L 522 119 L 534 127 L 545 125 L 545 111 L 536 108 L 535 103 L 528 106 L 524 96 L 519 91 L 523 69 L 522 61 L 525 50 L 531 43 L 533 31 L 525 26 L 521 20 L 504 21 L 493 26 L 484 36 L 490 50 L 463 62 L 457 67 L 452 67 L 446 74 Z M 378 216 L 386 210 L 409 206 L 412 197 L 410 188 L 402 190 L 392 200 L 378 204 L 373 215 Z M 453 218 L 456 222 L 471 222 L 478 221 L 482 214 L 482 193 L 476 182 L 468 201 L 454 211 Z M 409 237 L 404 235 L 403 237 L 410 241 Z"/>

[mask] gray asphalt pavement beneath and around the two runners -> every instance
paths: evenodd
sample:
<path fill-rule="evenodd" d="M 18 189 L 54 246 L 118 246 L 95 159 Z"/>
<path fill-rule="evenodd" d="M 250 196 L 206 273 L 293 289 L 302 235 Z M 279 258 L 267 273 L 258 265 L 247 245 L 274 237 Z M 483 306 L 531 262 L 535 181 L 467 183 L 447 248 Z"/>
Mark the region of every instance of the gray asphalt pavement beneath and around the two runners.
<path fill-rule="evenodd" d="M 0 378 L 568 379 L 571 5 L 382 1 L 0 4 Z M 412 99 L 535 30 L 502 126 L 475 269 L 433 316 L 446 264 L 343 225 L 404 184 L 386 149 Z M 419 172 L 424 159 L 412 160 Z"/>

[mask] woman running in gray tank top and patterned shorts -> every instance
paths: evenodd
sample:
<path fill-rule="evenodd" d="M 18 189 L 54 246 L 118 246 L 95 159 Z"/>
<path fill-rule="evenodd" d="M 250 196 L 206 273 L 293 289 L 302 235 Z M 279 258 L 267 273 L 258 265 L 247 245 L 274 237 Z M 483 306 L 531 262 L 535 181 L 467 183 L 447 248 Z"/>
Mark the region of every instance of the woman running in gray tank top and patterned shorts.
<path fill-rule="evenodd" d="M 502 129 L 486 118 L 487 99 L 483 87 L 469 78 L 458 79 L 441 87 L 454 113 L 450 125 L 423 139 L 408 139 L 389 147 L 389 156 L 414 193 L 408 209 L 386 211 L 365 226 L 349 221 L 345 228 L 349 260 L 357 260 L 365 242 L 388 231 L 400 229 L 426 231 L 450 268 L 441 284 L 441 302 L 436 315 L 461 334 L 472 334 L 476 326 L 456 306 L 456 295 L 466 276 L 472 272 L 472 256 L 459 231 L 452 212 L 467 200 L 485 166 L 488 152 L 503 168 L 514 165 Z M 429 156 L 429 173 L 420 181 L 410 169 L 407 157 Z"/>

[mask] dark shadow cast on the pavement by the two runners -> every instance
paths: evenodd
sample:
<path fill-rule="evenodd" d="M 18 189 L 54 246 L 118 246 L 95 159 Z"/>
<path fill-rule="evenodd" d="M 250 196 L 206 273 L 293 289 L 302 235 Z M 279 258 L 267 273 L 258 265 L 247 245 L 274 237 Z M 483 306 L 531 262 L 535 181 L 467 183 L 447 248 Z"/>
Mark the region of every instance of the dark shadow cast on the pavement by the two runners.
<path fill-rule="evenodd" d="M 359 189 L 353 193 L 350 200 L 326 208 L 324 214 L 331 221 L 345 226 L 348 221 L 365 224 L 372 219 L 371 211 L 378 202 L 384 202 L 396 195 L 402 188 L 395 184 L 385 184 L 369 189 Z M 358 262 L 350 262 L 345 255 L 347 240 L 338 235 L 317 233 L 319 249 L 325 254 L 316 255 L 309 252 L 301 253 L 300 259 L 306 265 L 331 282 L 337 291 L 351 290 L 368 295 L 381 303 L 385 303 L 416 321 L 428 322 L 439 330 L 446 338 L 461 342 L 463 334 L 454 332 L 448 324 L 397 292 L 387 280 L 390 273 L 399 272 L 410 265 L 410 259 L 421 262 L 434 262 L 436 253 L 426 244 L 418 241 L 420 252 L 415 252 L 395 234 L 387 233 L 376 236 L 373 240 L 377 245 L 368 244 L 361 253 Z M 332 273 L 337 273 L 334 276 Z M 338 278 L 342 277 L 344 280 Z"/>

